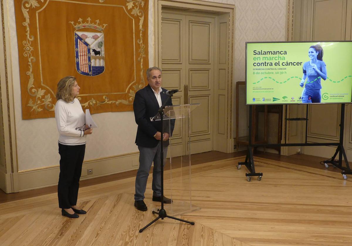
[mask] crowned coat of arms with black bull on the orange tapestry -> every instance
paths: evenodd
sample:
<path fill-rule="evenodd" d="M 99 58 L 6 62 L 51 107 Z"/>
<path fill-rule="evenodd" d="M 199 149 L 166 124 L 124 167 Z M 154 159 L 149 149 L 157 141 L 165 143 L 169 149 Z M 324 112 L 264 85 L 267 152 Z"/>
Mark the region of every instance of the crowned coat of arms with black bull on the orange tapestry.
<path fill-rule="evenodd" d="M 90 18 L 87 22 L 82 22 L 78 19 L 78 24 L 75 28 L 75 58 L 76 70 L 81 75 L 97 76 L 105 70 L 105 48 L 104 48 L 104 28 L 107 26 L 99 25 L 99 20 L 95 24 L 90 23 Z M 94 31 L 93 31 L 94 30 Z"/>

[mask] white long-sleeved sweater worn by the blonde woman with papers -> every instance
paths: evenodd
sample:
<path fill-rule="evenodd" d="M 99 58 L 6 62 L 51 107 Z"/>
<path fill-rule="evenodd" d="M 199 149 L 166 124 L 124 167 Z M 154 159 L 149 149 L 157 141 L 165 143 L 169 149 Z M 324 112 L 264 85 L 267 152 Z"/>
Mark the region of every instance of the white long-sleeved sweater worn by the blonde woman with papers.
<path fill-rule="evenodd" d="M 59 143 L 64 145 L 86 143 L 84 136 L 86 117 L 77 98 L 69 103 L 59 99 L 55 105 L 55 119 L 60 134 Z"/>

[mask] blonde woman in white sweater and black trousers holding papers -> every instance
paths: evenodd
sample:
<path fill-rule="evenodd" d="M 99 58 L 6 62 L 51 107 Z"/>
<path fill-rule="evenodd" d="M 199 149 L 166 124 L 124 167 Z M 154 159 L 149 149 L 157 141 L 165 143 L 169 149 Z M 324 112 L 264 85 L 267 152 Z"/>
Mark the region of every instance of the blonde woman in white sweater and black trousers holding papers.
<path fill-rule="evenodd" d="M 76 78 L 68 76 L 57 84 L 55 119 L 59 131 L 60 175 L 57 187 L 61 214 L 78 218 L 87 212 L 77 207 L 78 187 L 86 149 L 86 135 L 92 129 L 86 125 L 82 106 L 76 98 L 80 87 Z"/>

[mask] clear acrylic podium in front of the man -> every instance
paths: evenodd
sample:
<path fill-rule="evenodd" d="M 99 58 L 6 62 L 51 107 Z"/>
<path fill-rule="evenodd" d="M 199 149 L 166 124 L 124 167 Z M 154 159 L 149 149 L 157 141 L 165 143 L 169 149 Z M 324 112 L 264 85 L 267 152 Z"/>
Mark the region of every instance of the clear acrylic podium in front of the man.
<path fill-rule="evenodd" d="M 164 209 L 171 216 L 200 209 L 192 204 L 190 159 L 191 112 L 199 105 L 166 106 L 164 109 L 164 132 L 170 132 L 171 121 L 175 121 L 168 147 L 168 159 L 164 158 L 164 196 L 172 199 L 171 204 L 164 204 Z M 158 116 L 156 121 L 160 120 Z M 159 212 L 160 209 L 161 207 L 157 207 L 153 211 Z"/>

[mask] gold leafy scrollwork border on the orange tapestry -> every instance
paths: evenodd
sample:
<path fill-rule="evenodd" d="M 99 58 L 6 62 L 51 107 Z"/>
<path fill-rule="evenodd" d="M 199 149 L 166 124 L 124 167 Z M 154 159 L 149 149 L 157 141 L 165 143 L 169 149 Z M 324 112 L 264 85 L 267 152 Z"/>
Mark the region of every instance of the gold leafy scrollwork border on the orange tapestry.
<path fill-rule="evenodd" d="M 40 0 L 41 2 L 44 3 L 44 0 Z M 139 35 L 137 37 L 136 40 L 136 36 L 135 36 L 135 30 L 133 29 L 133 38 L 135 40 L 134 42 L 134 77 L 135 77 L 135 81 L 131 82 L 127 88 L 125 92 L 113 92 L 113 93 L 99 93 L 99 94 L 84 94 L 84 95 L 80 95 L 80 96 L 95 96 L 95 95 L 99 95 L 102 96 L 103 101 L 99 101 L 98 99 L 95 99 L 94 97 L 92 97 L 90 100 L 88 100 L 87 102 L 81 102 L 81 105 L 83 106 L 83 108 L 87 108 L 87 107 L 92 107 L 92 106 L 100 106 L 103 104 L 115 104 L 115 105 L 119 105 L 119 104 L 124 104 L 124 105 L 132 105 L 133 101 L 134 101 L 134 97 L 135 97 L 135 93 L 139 90 L 142 89 L 145 86 L 145 79 L 144 79 L 144 63 L 143 63 L 143 58 L 146 56 L 146 41 L 144 40 L 144 28 L 143 28 L 143 23 L 144 23 L 144 10 L 142 9 L 144 6 L 144 1 L 143 0 L 125 0 L 125 4 L 127 6 L 127 10 L 126 10 L 126 6 L 122 6 L 122 5 L 113 5 L 113 4 L 103 4 L 103 2 L 105 0 L 96 0 L 97 3 L 89 3 L 89 2 L 78 2 L 78 1 L 69 1 L 69 0 L 46 0 L 45 4 L 43 6 L 40 6 L 40 4 L 38 3 L 38 0 L 22 0 L 21 3 L 21 10 L 23 13 L 23 17 L 25 18 L 25 21 L 22 23 L 23 26 L 25 27 L 25 35 L 26 35 L 26 40 L 22 41 L 22 44 L 24 46 L 24 52 L 23 52 L 23 56 L 27 57 L 28 59 L 28 71 L 26 72 L 26 75 L 28 76 L 28 81 L 27 83 L 27 93 L 32 97 L 29 99 L 27 106 L 29 106 L 31 108 L 31 111 L 35 111 L 36 113 L 42 111 L 42 110 L 46 110 L 46 111 L 54 111 L 55 110 L 55 104 L 52 101 L 52 97 L 54 96 L 55 98 L 55 94 L 54 92 L 45 84 L 43 84 L 43 79 L 41 79 L 40 84 L 45 87 L 46 89 L 39 87 L 35 87 L 34 86 L 34 74 L 33 74 L 33 64 L 32 62 L 34 62 L 36 60 L 36 57 L 32 56 L 32 52 L 34 51 L 34 48 L 32 45 L 32 42 L 34 41 L 34 36 L 31 35 L 31 30 L 30 30 L 30 17 L 29 17 L 29 10 L 30 8 L 37 8 L 37 7 L 41 7 L 38 11 L 36 11 L 36 14 L 38 14 L 38 12 L 42 11 L 45 6 L 49 3 L 49 1 L 59 1 L 59 2 L 72 2 L 72 3 L 78 3 L 78 4 L 88 4 L 88 5 L 103 5 L 103 6 L 112 6 L 112 7 L 122 7 L 126 14 L 133 19 L 133 26 L 134 26 L 134 21 L 138 20 L 139 23 Z M 134 18 L 133 18 L 134 16 Z M 19 31 L 19 30 L 18 30 Z M 138 52 L 139 52 L 139 56 L 138 56 L 138 62 L 140 63 L 140 80 L 137 82 L 136 81 L 136 41 L 139 44 L 138 47 Z M 39 35 L 38 35 L 38 42 L 39 42 Z M 38 43 L 39 45 L 39 43 Z M 40 46 L 39 46 L 40 49 Z M 39 51 L 40 52 L 40 51 Z M 40 62 L 40 59 L 39 59 Z M 40 63 L 40 71 L 41 71 L 41 66 L 42 64 Z M 42 75 L 40 75 L 40 78 L 42 78 Z M 48 90 L 48 92 L 47 92 Z M 127 94 L 128 97 L 127 99 L 118 99 L 118 100 L 109 100 L 108 95 L 109 94 Z M 81 101 L 81 97 L 77 97 L 78 100 Z"/>

